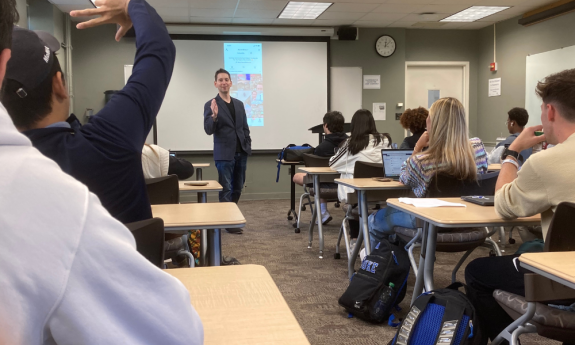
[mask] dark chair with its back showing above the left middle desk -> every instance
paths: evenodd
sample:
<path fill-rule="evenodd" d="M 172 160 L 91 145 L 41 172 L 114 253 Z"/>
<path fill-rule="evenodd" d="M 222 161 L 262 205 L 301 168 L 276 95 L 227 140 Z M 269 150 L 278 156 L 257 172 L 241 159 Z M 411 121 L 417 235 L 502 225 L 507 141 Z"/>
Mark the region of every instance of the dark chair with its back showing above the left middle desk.
<path fill-rule="evenodd" d="M 146 179 L 146 187 L 148 199 L 152 205 L 180 203 L 180 186 L 176 175 Z M 164 234 L 164 237 L 169 242 L 169 247 L 164 255 L 166 257 L 185 255 L 191 261 L 190 267 L 194 267 L 195 260 L 188 245 L 190 235 Z"/>

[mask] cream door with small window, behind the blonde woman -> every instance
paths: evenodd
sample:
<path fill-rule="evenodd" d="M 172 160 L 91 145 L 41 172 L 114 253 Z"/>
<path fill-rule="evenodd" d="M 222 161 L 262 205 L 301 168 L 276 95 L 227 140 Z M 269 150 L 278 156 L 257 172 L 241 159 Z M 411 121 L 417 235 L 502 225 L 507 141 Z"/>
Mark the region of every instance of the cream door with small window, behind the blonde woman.
<path fill-rule="evenodd" d="M 469 129 L 469 62 L 406 62 L 405 109 L 429 109 L 443 97 L 463 104 Z"/>

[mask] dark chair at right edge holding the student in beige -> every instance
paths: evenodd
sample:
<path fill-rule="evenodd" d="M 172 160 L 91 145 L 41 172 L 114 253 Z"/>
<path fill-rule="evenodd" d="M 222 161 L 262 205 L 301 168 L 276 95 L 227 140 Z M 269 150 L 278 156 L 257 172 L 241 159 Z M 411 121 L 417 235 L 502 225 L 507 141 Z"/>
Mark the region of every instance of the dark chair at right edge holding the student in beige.
<path fill-rule="evenodd" d="M 575 251 L 575 204 L 562 202 L 557 206 L 545 240 L 546 252 Z M 515 321 L 491 344 L 507 339 L 511 345 L 519 344 L 519 336 L 537 333 L 543 337 L 566 343 L 575 343 L 575 313 L 549 307 L 547 304 L 570 304 L 575 290 L 546 277 L 526 273 L 525 297 L 503 290 L 495 290 L 493 297 Z M 553 301 L 561 301 L 555 302 Z"/>

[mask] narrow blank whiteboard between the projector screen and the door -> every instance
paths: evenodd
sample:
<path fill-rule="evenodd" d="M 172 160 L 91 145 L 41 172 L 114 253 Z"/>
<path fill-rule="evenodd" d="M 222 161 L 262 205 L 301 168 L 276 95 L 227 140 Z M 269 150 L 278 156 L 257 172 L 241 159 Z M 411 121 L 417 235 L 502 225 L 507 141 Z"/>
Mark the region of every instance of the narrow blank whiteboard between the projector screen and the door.
<path fill-rule="evenodd" d="M 361 67 L 331 67 L 330 110 L 337 110 L 351 122 L 353 114 L 362 108 L 362 70 Z"/>

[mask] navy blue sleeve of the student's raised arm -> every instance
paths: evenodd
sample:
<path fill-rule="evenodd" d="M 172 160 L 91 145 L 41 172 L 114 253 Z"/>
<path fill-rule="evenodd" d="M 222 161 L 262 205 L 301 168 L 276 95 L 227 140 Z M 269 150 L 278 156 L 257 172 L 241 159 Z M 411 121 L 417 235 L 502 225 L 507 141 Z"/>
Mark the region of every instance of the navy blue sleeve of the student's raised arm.
<path fill-rule="evenodd" d="M 132 76 L 82 130 L 141 152 L 170 83 L 176 48 L 162 18 L 147 2 L 131 0 L 128 13 L 136 31 Z"/>

